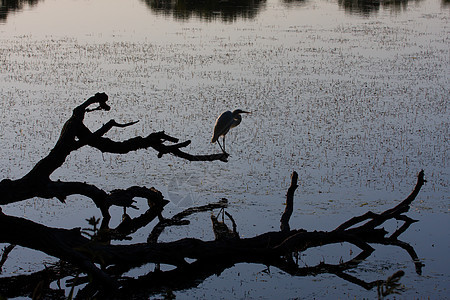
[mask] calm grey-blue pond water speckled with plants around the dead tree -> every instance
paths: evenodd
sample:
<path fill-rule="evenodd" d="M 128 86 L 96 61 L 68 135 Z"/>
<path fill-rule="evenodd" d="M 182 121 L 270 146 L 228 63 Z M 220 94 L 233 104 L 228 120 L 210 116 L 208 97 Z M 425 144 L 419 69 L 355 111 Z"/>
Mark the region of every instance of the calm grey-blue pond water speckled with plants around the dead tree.
<path fill-rule="evenodd" d="M 240 235 L 249 237 L 279 228 L 292 171 L 299 188 L 291 227 L 332 230 L 395 206 L 423 169 L 427 183 L 409 213 L 419 222 L 401 237 L 423 260 L 423 274 L 404 250 L 385 246 L 352 274 L 371 281 L 403 270 L 399 298 L 446 298 L 449 14 L 450 3 L 439 0 L 2 1 L 0 179 L 26 174 L 52 149 L 72 109 L 96 92 L 109 95 L 112 109 L 89 115 L 90 128 L 139 120 L 108 136 L 164 130 L 191 140 L 193 154 L 219 152 L 210 143 L 215 119 L 241 108 L 252 114 L 227 135 L 228 163 L 83 148 L 52 179 L 108 191 L 154 186 L 171 200 L 168 216 L 227 198 Z M 64 228 L 100 216 L 75 196 L 2 210 Z M 191 221 L 162 239 L 213 239 L 209 213 Z M 339 260 L 339 251 L 318 249 L 303 260 Z M 51 259 L 15 250 L 2 276 L 39 270 L 42 260 Z M 244 264 L 175 295 L 219 292 L 227 299 L 377 296 L 332 274 L 291 277 Z"/>

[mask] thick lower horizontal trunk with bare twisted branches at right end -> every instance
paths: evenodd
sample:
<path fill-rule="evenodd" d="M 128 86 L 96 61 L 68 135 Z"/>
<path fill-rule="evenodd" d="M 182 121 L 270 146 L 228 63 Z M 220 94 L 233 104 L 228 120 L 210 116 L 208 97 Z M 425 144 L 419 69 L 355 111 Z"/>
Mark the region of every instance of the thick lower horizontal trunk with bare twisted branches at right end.
<path fill-rule="evenodd" d="M 189 285 L 189 282 L 192 285 L 201 278 L 220 273 L 241 262 L 276 266 L 296 276 L 327 272 L 345 277 L 343 271 L 356 267 L 362 259 L 370 256 L 373 252 L 373 248 L 370 246 L 372 243 L 404 248 L 410 254 L 416 264 L 417 272 L 420 274 L 422 264 L 417 259 L 412 247 L 397 240 L 398 231 L 403 232 L 405 228 L 400 227 L 391 236 L 386 236 L 387 232 L 384 229 L 375 227 L 389 219 L 403 220 L 409 226 L 412 220 L 402 213 L 409 209 L 410 203 L 424 182 L 423 172 L 420 172 L 411 195 L 393 209 L 381 214 L 366 213 L 360 217 L 354 217 L 329 232 L 307 232 L 302 229 L 282 230 L 246 239 L 202 241 L 184 238 L 165 243 L 111 245 L 83 237 L 79 229 L 50 228 L 23 218 L 0 214 L 0 227 L 13 229 L 7 232 L 2 231 L 0 241 L 39 250 L 68 261 L 78 266 L 83 272 L 90 274 L 94 279 L 93 284 L 98 289 L 109 292 L 114 290 L 116 296 L 121 293 L 128 294 L 131 290 L 136 291 L 136 286 L 145 287 L 144 290 L 149 292 L 149 290 L 161 287 L 159 284 L 166 282 L 164 278 L 171 278 L 170 285 L 175 285 L 178 281 L 186 281 L 179 286 L 181 288 Z M 293 184 L 296 185 L 296 182 Z M 211 207 L 213 209 L 220 206 Z M 168 226 L 171 225 L 170 221 L 165 219 L 162 219 L 161 222 L 166 222 L 169 224 Z M 283 218 L 283 222 L 286 222 L 285 218 Z M 361 222 L 366 223 L 349 228 Z M 33 234 L 30 235 L 30 232 Z M 339 265 L 320 264 L 316 267 L 300 268 L 291 259 L 288 259 L 298 251 L 344 242 L 357 246 L 361 249 L 361 253 L 352 260 Z M 187 259 L 194 259 L 195 262 L 188 263 Z M 146 263 L 164 263 L 174 266 L 175 269 L 166 272 L 150 272 L 138 280 L 121 277 L 122 273 L 130 268 Z M 102 267 L 98 268 L 95 264 Z M 178 279 L 175 280 L 176 278 Z M 138 291 L 142 292 L 142 290 Z"/>

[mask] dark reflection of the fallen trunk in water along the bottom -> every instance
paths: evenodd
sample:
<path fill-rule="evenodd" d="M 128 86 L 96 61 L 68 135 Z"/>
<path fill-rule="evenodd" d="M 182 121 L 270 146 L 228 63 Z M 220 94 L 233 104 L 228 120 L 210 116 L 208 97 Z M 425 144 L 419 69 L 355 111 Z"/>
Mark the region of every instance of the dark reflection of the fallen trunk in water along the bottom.
<path fill-rule="evenodd" d="M 197 260 L 183 267 L 173 270 L 162 271 L 158 265 L 154 270 L 138 278 L 126 278 L 121 280 L 121 288 L 114 295 L 117 299 L 145 299 L 154 295 L 164 294 L 167 291 L 181 291 L 199 286 L 207 278 L 221 274 L 223 271 L 241 262 L 263 263 L 268 268 L 270 266 L 282 270 L 286 274 L 295 277 L 318 276 L 320 274 L 335 275 L 349 283 L 358 285 L 366 290 L 377 289 L 378 296 L 383 297 L 389 294 L 397 294 L 402 290 L 400 280 L 405 274 L 402 270 L 392 271 L 388 278 L 365 281 L 355 275 L 355 270 L 363 261 L 371 256 L 373 251 L 362 251 L 353 259 L 339 264 L 319 263 L 312 267 L 299 267 L 293 257 L 287 256 L 284 259 L 272 261 L 259 261 L 255 259 L 230 259 L 230 260 Z M 270 269 L 268 269 L 270 272 Z M 113 269 L 110 269 L 114 273 Z M 124 270 L 116 270 L 122 273 Z M 347 272 L 346 272 L 347 271 Z M 350 271 L 350 272 L 348 272 Z M 63 261 L 47 264 L 42 271 L 11 277 L 0 278 L 0 290 L 2 297 L 27 297 L 37 292 L 51 295 L 52 299 L 66 299 L 62 287 L 50 285 L 51 282 L 61 282 L 66 280 L 66 289 L 79 289 L 77 299 L 92 299 L 98 293 L 98 286 L 93 284 L 89 276 L 80 275 L 83 273 L 77 267 Z M 38 291 L 38 289 L 41 289 Z M 109 295 L 111 296 L 111 295 Z"/>

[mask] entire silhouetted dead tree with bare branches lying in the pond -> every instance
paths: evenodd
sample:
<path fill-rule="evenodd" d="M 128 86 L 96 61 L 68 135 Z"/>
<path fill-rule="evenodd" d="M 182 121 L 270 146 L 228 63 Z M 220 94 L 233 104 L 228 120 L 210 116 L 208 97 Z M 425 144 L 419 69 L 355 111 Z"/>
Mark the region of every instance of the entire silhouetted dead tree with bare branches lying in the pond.
<path fill-rule="evenodd" d="M 92 199 L 103 216 L 100 228 L 94 227 L 92 234 L 86 234 L 86 231 L 82 231 L 81 228 L 69 230 L 47 227 L 24 218 L 7 216 L 0 211 L 0 228 L 3 229 L 0 231 L 0 242 L 42 251 L 61 260 L 60 264 L 46 266 L 43 271 L 31 275 L 1 278 L 1 296 L 18 297 L 39 294 L 52 298 L 64 298 L 64 293 L 58 289 L 50 289 L 49 284 L 63 277 L 73 276 L 70 282 L 73 286 L 87 283 L 77 294 L 77 298 L 80 299 L 93 296 L 141 298 L 166 290 L 195 287 L 209 276 L 219 274 L 241 262 L 276 266 L 292 276 L 331 273 L 366 289 L 377 287 L 382 291 L 388 290 L 388 285 L 395 286 L 402 275 L 401 272 L 395 273 L 387 280 L 374 282 L 364 282 L 345 273 L 346 270 L 356 268 L 362 260 L 371 255 L 374 249 L 370 244 L 394 245 L 406 250 L 415 263 L 416 272 L 421 274 L 422 263 L 418 260 L 414 249 L 409 244 L 398 240 L 398 237 L 413 222 L 416 222 L 404 213 L 409 210 L 412 201 L 425 183 L 423 171 L 418 174 L 413 192 L 394 208 L 380 214 L 368 212 L 353 217 L 328 232 L 308 232 L 290 228 L 289 220 L 293 213 L 294 193 L 298 186 L 298 175 L 294 172 L 287 192 L 286 208 L 281 217 L 280 231 L 267 232 L 252 238 L 240 238 L 235 220 L 229 213 L 222 211 L 221 221 L 218 217 L 211 216 L 211 230 L 215 233 L 215 240 L 181 238 L 172 242 L 159 242 L 161 232 L 168 226 L 188 225 L 186 217 L 195 213 L 224 210 L 228 205 L 226 199 L 189 208 L 171 218 L 166 218 L 163 216 L 163 209 L 168 201 L 154 188 L 133 186 L 108 193 L 86 183 L 52 181 L 49 176 L 62 165 L 71 151 L 86 145 L 102 152 L 114 153 L 153 148 L 158 152 L 159 157 L 170 153 L 189 160 L 226 161 L 228 156 L 185 153 L 180 148 L 190 142 L 178 143 L 177 139 L 164 132 L 123 142 L 114 142 L 103 137 L 112 127 L 127 127 L 136 122 L 119 124 L 111 120 L 97 131 L 91 132 L 83 124 L 84 115 L 96 110 L 109 110 L 107 100 L 106 94 L 96 94 L 75 108 L 72 117 L 64 125 L 58 142 L 47 157 L 38 162 L 23 178 L 4 179 L 0 182 L 0 204 L 14 203 L 31 197 L 47 199 L 56 197 L 64 201 L 68 195 L 81 194 Z M 98 106 L 90 109 L 91 105 Z M 175 144 L 165 145 L 166 141 Z M 134 207 L 135 197 L 147 199 L 148 210 L 135 218 L 130 218 L 124 212 L 122 222 L 116 228 L 109 228 L 111 218 L 109 208 L 113 205 L 124 209 Z M 231 221 L 232 229 L 228 228 L 225 215 Z M 131 239 L 131 235 L 136 230 L 146 227 L 155 219 L 159 222 L 152 230 L 149 229 L 146 243 L 113 244 L 114 240 Z M 388 235 L 380 226 L 391 219 L 404 223 L 393 234 Z M 95 219 L 91 221 L 94 225 L 97 222 Z M 320 263 L 313 267 L 300 267 L 296 261 L 298 253 L 306 249 L 344 242 L 355 245 L 361 252 L 351 260 L 336 265 Z M 5 248 L 2 264 L 13 248 L 13 246 Z M 130 269 L 148 263 L 154 263 L 155 270 L 139 278 L 128 278 L 124 275 Z M 158 268 L 159 264 L 171 265 L 173 269 L 162 271 Z"/>

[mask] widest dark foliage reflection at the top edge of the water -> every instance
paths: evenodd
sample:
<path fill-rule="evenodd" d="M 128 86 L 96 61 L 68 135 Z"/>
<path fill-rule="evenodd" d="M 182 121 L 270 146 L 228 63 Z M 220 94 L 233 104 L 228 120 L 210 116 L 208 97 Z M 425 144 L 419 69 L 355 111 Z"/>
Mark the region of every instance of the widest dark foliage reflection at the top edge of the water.
<path fill-rule="evenodd" d="M 186 20 L 193 16 L 206 21 L 252 19 L 264 7 L 265 0 L 143 0 L 157 14 Z"/>

